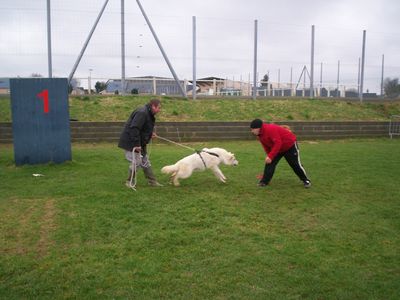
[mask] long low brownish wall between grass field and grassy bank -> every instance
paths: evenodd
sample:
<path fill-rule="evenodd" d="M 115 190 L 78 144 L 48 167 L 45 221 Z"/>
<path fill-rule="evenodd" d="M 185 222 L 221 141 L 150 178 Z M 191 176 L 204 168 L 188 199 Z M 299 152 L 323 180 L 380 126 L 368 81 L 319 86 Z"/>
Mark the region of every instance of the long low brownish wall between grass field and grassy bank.
<path fill-rule="evenodd" d="M 276 122 L 290 126 L 299 140 L 388 137 L 389 122 Z M 249 122 L 157 122 L 158 135 L 181 142 L 249 140 Z M 72 142 L 117 142 L 124 122 L 71 122 Z M 11 123 L 0 123 L 0 143 L 12 143 Z"/>

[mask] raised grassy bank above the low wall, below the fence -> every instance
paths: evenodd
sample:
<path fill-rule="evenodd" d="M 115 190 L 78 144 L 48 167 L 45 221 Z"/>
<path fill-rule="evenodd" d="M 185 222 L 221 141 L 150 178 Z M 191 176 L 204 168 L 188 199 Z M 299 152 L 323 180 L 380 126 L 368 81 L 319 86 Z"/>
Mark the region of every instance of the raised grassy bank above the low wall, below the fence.
<path fill-rule="evenodd" d="M 151 96 L 70 97 L 70 117 L 79 121 L 126 121 Z M 159 121 L 386 121 L 400 114 L 400 101 L 360 103 L 335 100 L 250 100 L 161 97 Z M 10 101 L 0 99 L 0 121 L 10 122 Z"/>

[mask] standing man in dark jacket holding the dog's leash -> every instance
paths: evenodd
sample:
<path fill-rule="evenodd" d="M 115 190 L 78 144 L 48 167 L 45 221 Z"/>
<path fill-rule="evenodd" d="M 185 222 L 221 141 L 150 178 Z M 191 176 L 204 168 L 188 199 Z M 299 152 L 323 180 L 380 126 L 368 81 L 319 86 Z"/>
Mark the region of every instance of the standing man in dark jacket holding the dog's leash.
<path fill-rule="evenodd" d="M 131 162 L 129 165 L 129 176 L 126 182 L 130 186 L 131 180 L 136 174 L 132 169 L 132 161 L 136 163 L 136 168 L 143 168 L 145 177 L 151 186 L 162 186 L 157 182 L 151 169 L 150 160 L 147 156 L 146 146 L 153 137 L 156 137 L 154 125 L 155 115 L 161 110 L 161 102 L 152 99 L 145 106 L 132 112 L 121 133 L 118 147 L 125 150 L 125 158 Z"/>

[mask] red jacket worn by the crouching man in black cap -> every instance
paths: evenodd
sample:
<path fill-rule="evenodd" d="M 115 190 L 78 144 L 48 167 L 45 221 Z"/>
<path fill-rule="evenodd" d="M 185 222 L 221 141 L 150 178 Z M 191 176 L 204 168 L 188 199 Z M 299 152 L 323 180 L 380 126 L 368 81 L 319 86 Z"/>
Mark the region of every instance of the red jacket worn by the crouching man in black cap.
<path fill-rule="evenodd" d="M 296 136 L 291 131 L 276 124 L 264 123 L 257 138 L 271 160 L 278 153 L 289 150 L 296 142 Z"/>

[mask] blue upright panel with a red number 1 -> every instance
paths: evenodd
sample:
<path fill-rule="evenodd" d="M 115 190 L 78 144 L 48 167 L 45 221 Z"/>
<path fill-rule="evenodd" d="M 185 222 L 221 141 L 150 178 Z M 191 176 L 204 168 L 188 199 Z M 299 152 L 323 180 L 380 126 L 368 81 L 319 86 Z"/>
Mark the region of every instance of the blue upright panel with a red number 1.
<path fill-rule="evenodd" d="M 71 160 L 66 78 L 10 79 L 15 164 Z"/>

